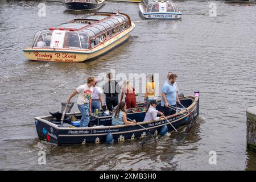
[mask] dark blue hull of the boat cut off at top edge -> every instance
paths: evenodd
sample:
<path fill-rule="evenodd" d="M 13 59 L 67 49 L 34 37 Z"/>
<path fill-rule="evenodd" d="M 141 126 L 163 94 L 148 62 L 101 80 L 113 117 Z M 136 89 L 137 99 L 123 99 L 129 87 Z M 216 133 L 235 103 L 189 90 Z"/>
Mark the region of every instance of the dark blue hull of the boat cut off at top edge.
<path fill-rule="evenodd" d="M 100 8 L 102 5 L 104 5 L 104 2 L 102 3 L 87 3 L 87 2 L 66 2 L 65 3 L 67 9 L 69 10 L 76 10 L 76 11 L 82 11 L 82 10 L 95 10 Z"/>

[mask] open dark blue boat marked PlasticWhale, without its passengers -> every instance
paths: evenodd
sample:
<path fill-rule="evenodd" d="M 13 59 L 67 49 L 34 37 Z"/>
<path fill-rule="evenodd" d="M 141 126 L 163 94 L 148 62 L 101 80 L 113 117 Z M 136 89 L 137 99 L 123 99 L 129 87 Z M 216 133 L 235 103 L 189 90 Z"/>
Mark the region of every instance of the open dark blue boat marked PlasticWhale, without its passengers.
<path fill-rule="evenodd" d="M 103 113 L 90 116 L 89 127 L 79 127 L 80 121 L 71 122 L 71 118 L 79 120 L 81 113 L 68 113 L 61 124 L 60 117 L 52 115 L 35 117 L 36 131 L 40 140 L 55 144 L 85 144 L 85 143 L 111 143 L 113 141 L 134 140 L 144 138 L 148 133 L 152 135 L 166 134 L 167 131 L 180 129 L 185 125 L 191 125 L 199 116 L 199 92 L 194 96 L 179 97 L 181 109 L 176 114 L 169 115 L 159 121 L 144 121 L 145 111 L 143 103 L 127 112 L 127 118 L 135 119 L 137 123 L 130 125 L 112 126 L 112 115 Z M 160 110 L 160 104 L 156 109 Z M 168 121 L 167 121 L 168 119 Z M 74 120 L 74 119 L 72 119 Z M 170 125 L 170 123 L 172 125 Z M 111 141 L 110 141 L 111 140 Z"/>

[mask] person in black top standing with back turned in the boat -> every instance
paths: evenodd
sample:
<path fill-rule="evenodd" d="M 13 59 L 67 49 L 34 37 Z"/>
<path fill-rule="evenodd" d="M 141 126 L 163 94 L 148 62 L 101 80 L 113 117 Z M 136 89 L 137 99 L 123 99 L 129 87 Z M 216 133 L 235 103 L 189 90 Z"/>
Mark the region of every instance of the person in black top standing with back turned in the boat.
<path fill-rule="evenodd" d="M 108 81 L 103 86 L 106 95 L 106 105 L 110 111 L 118 105 L 118 94 L 121 92 L 120 85 L 117 81 L 112 80 L 112 77 L 112 73 L 108 73 Z"/>

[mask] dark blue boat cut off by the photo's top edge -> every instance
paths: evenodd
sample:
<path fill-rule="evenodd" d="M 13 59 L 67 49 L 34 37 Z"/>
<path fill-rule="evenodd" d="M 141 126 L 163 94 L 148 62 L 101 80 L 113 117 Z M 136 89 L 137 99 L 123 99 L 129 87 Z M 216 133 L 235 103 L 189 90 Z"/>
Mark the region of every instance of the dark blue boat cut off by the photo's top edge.
<path fill-rule="evenodd" d="M 96 10 L 104 5 L 105 0 L 66 0 L 65 6 L 68 10 L 84 11 Z"/>

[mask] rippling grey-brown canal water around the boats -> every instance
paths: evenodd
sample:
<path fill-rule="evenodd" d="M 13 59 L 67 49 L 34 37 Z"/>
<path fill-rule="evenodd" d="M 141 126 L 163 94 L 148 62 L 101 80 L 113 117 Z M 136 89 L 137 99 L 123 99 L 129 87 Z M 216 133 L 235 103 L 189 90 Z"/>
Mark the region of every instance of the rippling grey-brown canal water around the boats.
<path fill-rule="evenodd" d="M 256 154 L 246 149 L 246 109 L 256 105 L 256 5 L 177 3 L 181 20 L 146 20 L 137 3 L 106 1 L 100 11 L 122 11 L 136 25 L 126 43 L 85 63 L 40 63 L 22 52 L 35 32 L 85 13 L 67 11 L 61 1 L 0 1 L 0 169 L 255 170 Z M 216 16 L 209 15 L 214 7 Z M 143 147 L 139 140 L 55 146 L 38 139 L 34 117 L 59 111 L 86 77 L 110 69 L 159 73 L 159 85 L 174 72 L 180 93 L 200 91 L 200 119 L 184 142 L 175 133 Z M 39 151 L 46 152 L 46 165 L 38 164 Z M 212 151 L 216 164 L 209 164 Z"/>

